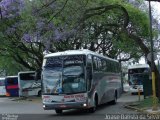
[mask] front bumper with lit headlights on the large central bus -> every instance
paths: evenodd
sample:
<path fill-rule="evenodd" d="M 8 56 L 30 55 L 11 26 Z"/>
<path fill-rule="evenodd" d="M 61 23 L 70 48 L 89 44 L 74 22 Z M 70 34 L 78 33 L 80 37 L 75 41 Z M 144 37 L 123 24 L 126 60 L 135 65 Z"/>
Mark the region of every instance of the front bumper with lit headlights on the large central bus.
<path fill-rule="evenodd" d="M 57 104 L 45 104 L 43 103 L 44 110 L 53 110 L 53 109 L 86 109 L 89 106 L 85 102 L 81 103 L 57 103 Z"/>

